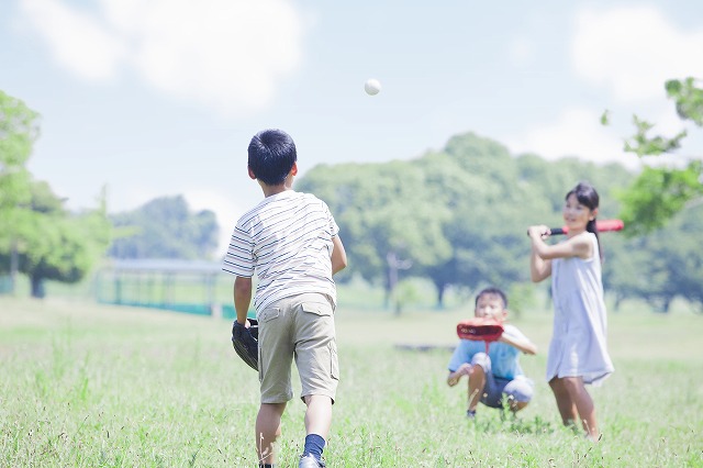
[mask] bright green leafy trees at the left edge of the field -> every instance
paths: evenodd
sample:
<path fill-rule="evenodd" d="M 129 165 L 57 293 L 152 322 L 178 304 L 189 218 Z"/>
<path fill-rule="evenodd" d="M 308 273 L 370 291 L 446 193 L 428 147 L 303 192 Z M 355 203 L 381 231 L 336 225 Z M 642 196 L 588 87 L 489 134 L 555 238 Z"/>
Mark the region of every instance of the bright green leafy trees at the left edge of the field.
<path fill-rule="evenodd" d="M 105 200 L 98 210 L 66 211 L 48 183 L 26 168 L 38 136 L 38 114 L 0 91 L 0 271 L 29 276 L 32 296 L 44 296 L 44 281 L 76 282 L 107 248 L 110 226 Z"/>

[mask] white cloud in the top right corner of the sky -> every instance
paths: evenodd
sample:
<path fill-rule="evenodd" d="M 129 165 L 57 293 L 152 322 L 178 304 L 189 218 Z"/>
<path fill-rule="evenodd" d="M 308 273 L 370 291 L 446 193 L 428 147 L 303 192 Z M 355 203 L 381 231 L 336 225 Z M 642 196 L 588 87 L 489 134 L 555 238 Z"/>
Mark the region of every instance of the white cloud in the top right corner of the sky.
<path fill-rule="evenodd" d="M 615 99 L 663 98 L 667 79 L 703 75 L 703 30 L 681 31 L 654 7 L 583 9 L 576 19 L 572 65 Z"/>

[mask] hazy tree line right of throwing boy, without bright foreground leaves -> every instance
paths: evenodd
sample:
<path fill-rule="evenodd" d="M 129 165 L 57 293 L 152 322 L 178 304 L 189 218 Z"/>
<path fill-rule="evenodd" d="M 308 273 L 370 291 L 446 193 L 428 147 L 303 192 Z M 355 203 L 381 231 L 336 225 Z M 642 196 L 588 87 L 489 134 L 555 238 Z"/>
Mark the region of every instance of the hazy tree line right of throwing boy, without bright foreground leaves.
<path fill-rule="evenodd" d="M 427 278 L 440 307 L 449 287 L 528 282 L 526 229 L 560 226 L 563 197 L 577 182 L 596 187 L 600 218 L 607 219 L 620 216 L 622 193 L 635 179 L 618 164 L 515 157 L 467 133 L 415 160 L 317 166 L 298 188 L 335 214 L 349 256 L 341 280 L 359 275 L 390 299 L 399 277 Z M 651 234 L 601 236 L 604 282 L 617 302 L 643 298 L 662 311 L 676 297 L 703 304 L 701 214 L 688 207 Z"/>

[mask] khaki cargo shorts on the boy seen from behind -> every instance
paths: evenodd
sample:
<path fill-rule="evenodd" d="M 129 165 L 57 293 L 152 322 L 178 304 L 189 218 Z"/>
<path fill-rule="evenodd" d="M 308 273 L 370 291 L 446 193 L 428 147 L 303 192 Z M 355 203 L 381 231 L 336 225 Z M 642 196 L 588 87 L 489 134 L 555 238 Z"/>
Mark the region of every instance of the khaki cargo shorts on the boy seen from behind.
<path fill-rule="evenodd" d="M 291 296 L 272 302 L 257 320 L 261 403 L 293 398 L 293 358 L 302 387 L 300 398 L 325 395 L 334 403 L 339 366 L 332 300 L 320 293 Z"/>

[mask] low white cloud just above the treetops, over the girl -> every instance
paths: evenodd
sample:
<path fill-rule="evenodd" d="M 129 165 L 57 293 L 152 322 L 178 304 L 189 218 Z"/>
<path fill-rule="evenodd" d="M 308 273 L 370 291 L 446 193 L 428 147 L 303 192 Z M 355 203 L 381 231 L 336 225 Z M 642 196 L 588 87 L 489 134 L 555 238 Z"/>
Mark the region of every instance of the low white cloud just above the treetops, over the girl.
<path fill-rule="evenodd" d="M 574 156 L 596 164 L 616 161 L 638 166 L 637 157 L 623 152 L 623 137 L 603 126 L 600 115 L 588 109 L 567 109 L 557 122 L 542 124 L 503 138 L 513 153 L 535 153 L 547 159 Z"/>

